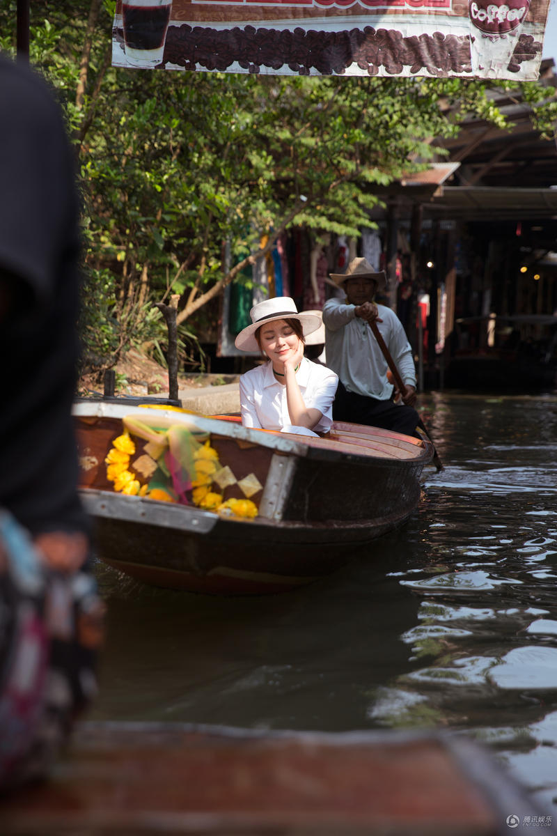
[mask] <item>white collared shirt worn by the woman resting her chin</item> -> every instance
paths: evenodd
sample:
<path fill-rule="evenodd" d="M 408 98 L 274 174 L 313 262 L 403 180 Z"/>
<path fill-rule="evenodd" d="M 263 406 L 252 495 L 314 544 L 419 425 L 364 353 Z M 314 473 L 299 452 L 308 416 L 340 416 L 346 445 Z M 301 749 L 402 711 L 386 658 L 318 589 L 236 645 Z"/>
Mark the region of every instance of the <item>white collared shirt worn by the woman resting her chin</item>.
<path fill-rule="evenodd" d="M 312 363 L 303 357 L 296 371 L 296 380 L 306 409 L 322 413 L 322 418 L 313 430 L 328 432 L 332 425 L 332 401 L 337 391 L 337 375 L 327 366 Z M 286 430 L 286 427 L 291 426 L 286 386 L 276 380 L 271 362 L 256 366 L 241 376 L 240 407 L 244 426 L 263 430 Z"/>

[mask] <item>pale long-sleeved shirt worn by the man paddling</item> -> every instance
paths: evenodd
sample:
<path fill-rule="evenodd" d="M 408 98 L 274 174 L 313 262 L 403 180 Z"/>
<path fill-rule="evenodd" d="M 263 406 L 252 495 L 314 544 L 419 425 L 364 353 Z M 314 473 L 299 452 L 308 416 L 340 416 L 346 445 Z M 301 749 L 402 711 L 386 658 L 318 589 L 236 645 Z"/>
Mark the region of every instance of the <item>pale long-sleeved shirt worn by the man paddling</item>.
<path fill-rule="evenodd" d="M 349 392 L 377 400 L 388 400 L 392 384 L 387 380 L 387 361 L 365 319 L 355 314 L 356 306 L 328 299 L 323 306 L 327 366 L 337 373 Z M 377 328 L 385 340 L 403 383 L 416 387 L 416 368 L 412 348 L 397 314 L 377 305 Z"/>

